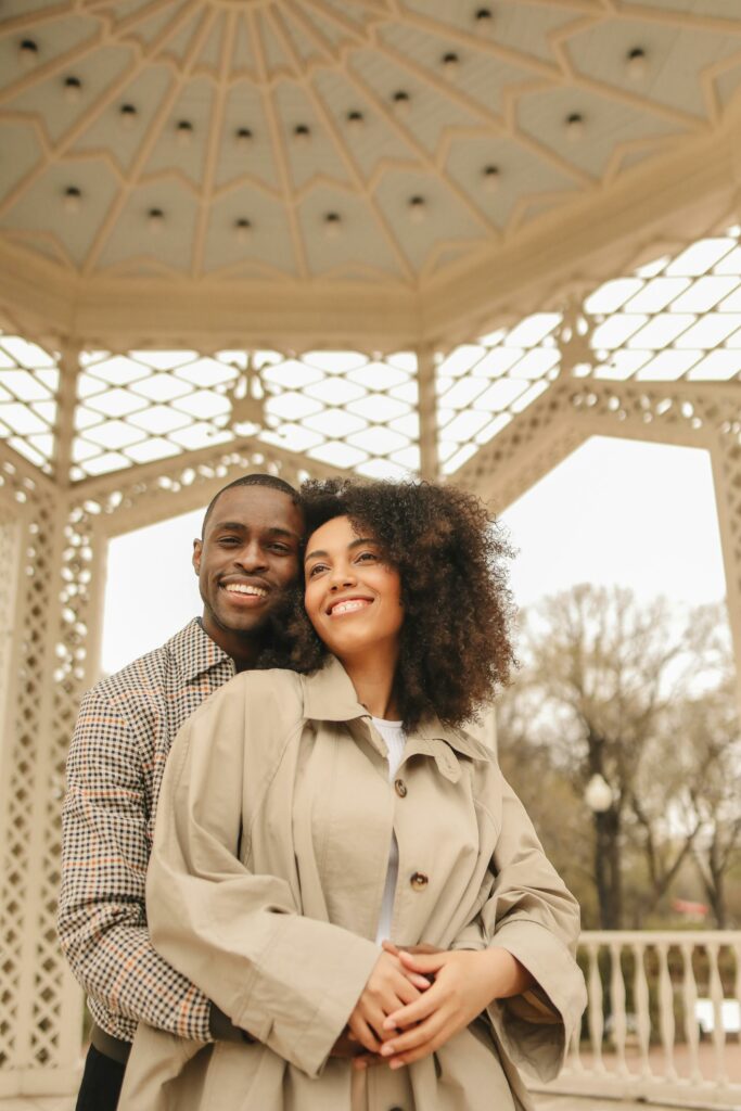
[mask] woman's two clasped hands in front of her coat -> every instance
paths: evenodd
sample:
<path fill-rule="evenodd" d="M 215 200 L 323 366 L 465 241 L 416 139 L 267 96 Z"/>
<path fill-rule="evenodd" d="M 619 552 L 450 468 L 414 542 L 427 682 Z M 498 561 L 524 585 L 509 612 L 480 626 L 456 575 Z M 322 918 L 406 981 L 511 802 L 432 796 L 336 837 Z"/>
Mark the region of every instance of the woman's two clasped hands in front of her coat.
<path fill-rule="evenodd" d="M 368 1052 L 356 1068 L 411 1064 L 444 1045 L 494 999 L 531 982 L 505 949 L 408 952 L 383 943 L 349 1020 L 350 1038 Z"/>

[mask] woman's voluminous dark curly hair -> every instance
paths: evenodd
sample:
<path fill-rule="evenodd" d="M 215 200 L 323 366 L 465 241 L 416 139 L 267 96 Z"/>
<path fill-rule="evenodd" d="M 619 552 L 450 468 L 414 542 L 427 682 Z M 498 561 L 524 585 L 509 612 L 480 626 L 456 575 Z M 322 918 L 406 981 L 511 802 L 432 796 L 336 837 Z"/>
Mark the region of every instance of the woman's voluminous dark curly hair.
<path fill-rule="evenodd" d="M 430 714 L 449 725 L 473 718 L 514 664 L 505 570 L 512 550 L 483 503 L 452 486 L 348 479 L 306 482 L 301 498 L 308 537 L 347 516 L 400 573 L 395 695 L 404 727 Z M 302 607 L 291 635 L 291 665 L 320 667 L 327 649 Z"/>

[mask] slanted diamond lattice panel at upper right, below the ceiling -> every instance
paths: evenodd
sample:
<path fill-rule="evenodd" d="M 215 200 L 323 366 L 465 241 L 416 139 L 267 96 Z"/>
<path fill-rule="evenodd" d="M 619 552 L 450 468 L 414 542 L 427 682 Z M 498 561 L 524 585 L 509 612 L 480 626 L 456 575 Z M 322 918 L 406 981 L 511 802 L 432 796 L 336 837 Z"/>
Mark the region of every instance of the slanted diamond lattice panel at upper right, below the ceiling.
<path fill-rule="evenodd" d="M 612 381 L 738 379 L 740 231 L 732 227 L 607 281 L 574 313 L 534 313 L 441 359 L 443 473 L 462 467 L 567 370 Z"/>

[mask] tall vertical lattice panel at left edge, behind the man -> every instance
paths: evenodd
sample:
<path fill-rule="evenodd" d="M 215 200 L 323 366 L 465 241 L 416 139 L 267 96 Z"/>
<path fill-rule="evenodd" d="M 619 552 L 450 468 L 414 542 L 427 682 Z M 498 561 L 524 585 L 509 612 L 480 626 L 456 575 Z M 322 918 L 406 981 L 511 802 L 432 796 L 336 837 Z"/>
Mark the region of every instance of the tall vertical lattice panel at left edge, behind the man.
<path fill-rule="evenodd" d="M 8 587 L 17 597 L 2 749 L 0 1061 L 3 1069 L 24 1070 L 59 1065 L 69 1052 L 61 1012 L 74 1000 L 54 931 L 59 777 L 69 744 L 67 723 L 52 712 L 51 681 L 61 514 L 51 483 L 9 457 L 0 466 L 0 488 L 6 503 L 20 510 L 21 554 L 20 589 L 11 573 Z"/>

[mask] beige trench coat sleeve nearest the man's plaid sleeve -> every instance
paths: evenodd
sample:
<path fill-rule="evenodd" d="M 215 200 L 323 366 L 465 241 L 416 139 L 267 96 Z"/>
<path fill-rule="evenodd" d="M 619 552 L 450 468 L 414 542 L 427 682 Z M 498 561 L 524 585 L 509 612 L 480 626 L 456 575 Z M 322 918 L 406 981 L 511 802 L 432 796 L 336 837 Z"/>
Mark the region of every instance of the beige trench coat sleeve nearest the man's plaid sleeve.
<path fill-rule="evenodd" d="M 254 730 L 264 735 L 246 735 L 243 678 L 176 738 L 147 879 L 149 925 L 156 949 L 238 1027 L 318 1075 L 379 950 L 303 917 L 286 879 L 253 874 L 240 860 L 244 784 L 250 799 L 263 799 L 280 759 L 279 744 L 264 754 L 268 735 L 277 740 L 270 707 L 266 728 Z"/>

